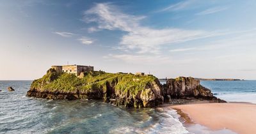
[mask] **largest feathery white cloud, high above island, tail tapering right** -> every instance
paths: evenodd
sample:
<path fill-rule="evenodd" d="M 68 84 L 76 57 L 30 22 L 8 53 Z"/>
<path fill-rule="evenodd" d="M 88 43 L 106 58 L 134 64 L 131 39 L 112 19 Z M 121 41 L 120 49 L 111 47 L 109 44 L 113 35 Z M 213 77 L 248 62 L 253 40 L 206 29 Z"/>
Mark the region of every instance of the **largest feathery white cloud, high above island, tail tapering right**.
<path fill-rule="evenodd" d="M 97 29 L 120 30 L 127 32 L 122 36 L 120 46 L 122 50 L 137 53 L 157 53 L 161 45 L 170 45 L 183 41 L 196 40 L 215 36 L 200 30 L 185 30 L 175 28 L 153 29 L 141 26 L 143 16 L 128 15 L 109 3 L 95 4 L 90 10 L 84 11 L 85 22 L 96 22 Z"/>

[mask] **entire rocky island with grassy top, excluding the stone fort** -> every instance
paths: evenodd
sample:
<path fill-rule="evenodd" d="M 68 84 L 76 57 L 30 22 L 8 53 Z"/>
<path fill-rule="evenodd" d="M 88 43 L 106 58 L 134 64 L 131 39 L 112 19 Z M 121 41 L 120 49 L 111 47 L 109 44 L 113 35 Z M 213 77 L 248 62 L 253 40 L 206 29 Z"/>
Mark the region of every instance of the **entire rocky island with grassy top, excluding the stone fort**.
<path fill-rule="evenodd" d="M 221 102 L 191 77 L 169 79 L 162 86 L 152 75 L 90 71 L 79 78 L 69 73 L 58 73 L 54 69 L 34 80 L 27 96 L 53 100 L 104 100 L 125 107 L 156 107 L 166 100 L 170 101 L 170 98 L 186 97 Z"/>

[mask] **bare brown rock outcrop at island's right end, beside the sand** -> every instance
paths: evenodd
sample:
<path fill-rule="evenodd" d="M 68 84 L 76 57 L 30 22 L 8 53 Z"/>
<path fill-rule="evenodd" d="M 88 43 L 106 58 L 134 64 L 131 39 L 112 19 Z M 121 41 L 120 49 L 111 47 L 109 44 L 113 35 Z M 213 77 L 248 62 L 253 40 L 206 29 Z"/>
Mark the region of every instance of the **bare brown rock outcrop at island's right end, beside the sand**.
<path fill-rule="evenodd" d="M 210 89 L 200 85 L 200 80 L 192 77 L 170 78 L 164 86 L 166 98 L 187 99 L 195 98 L 212 102 L 225 102 L 213 96 Z"/>

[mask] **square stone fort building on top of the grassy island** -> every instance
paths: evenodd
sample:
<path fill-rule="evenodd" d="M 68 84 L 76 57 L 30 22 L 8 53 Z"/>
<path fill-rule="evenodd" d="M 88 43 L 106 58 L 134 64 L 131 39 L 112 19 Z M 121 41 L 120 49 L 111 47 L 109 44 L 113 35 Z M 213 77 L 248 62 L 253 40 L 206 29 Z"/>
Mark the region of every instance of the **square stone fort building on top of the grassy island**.
<path fill-rule="evenodd" d="M 64 66 L 51 66 L 57 72 L 74 73 L 79 76 L 81 72 L 93 71 L 93 66 L 81 66 L 81 65 L 64 65 Z"/>

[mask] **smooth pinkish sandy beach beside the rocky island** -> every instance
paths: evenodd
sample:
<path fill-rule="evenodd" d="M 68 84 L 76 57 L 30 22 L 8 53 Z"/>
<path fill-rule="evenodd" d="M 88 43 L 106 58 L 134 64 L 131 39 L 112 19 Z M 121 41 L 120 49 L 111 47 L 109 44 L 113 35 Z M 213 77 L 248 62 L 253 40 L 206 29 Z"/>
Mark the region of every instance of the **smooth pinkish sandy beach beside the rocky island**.
<path fill-rule="evenodd" d="M 228 129 L 236 133 L 251 134 L 256 131 L 256 105 L 251 103 L 200 103 L 175 105 L 194 123 L 212 130 Z"/>

